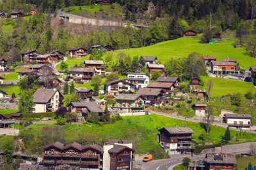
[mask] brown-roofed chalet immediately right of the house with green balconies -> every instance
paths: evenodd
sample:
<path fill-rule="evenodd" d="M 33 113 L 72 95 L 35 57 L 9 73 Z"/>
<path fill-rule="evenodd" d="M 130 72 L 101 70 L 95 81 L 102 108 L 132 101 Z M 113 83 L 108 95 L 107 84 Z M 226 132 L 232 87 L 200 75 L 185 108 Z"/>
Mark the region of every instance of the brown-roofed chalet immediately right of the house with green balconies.
<path fill-rule="evenodd" d="M 136 92 L 136 94 L 145 98 L 146 104 L 161 104 L 164 99 L 164 90 L 163 89 L 150 89 L 150 88 L 142 88 Z"/>

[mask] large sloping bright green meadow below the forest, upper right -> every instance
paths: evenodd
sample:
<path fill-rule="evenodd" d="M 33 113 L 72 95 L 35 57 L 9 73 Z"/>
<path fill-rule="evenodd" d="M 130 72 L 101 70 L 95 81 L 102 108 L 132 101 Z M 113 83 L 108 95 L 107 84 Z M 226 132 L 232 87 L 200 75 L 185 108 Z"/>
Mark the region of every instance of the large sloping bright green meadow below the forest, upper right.
<path fill-rule="evenodd" d="M 158 61 L 164 64 L 168 62 L 170 57 L 179 58 L 188 56 L 192 52 L 198 52 L 202 55 L 216 56 L 217 60 L 224 58 L 237 59 L 239 66 L 243 69 L 256 66 L 256 59 L 246 55 L 244 48 L 234 48 L 234 40 L 223 39 L 220 43 L 214 43 L 214 45 L 200 44 L 198 41 L 199 39 L 195 38 L 178 38 L 152 46 L 114 51 L 113 56 L 115 57 L 120 52 L 125 52 L 131 57 L 136 55 L 156 56 Z"/>

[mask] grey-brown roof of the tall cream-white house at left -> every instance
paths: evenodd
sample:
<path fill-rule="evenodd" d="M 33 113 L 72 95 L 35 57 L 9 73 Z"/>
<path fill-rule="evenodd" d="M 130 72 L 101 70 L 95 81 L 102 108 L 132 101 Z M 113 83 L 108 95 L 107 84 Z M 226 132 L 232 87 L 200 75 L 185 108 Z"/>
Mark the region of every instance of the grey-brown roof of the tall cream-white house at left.
<path fill-rule="evenodd" d="M 52 96 L 57 92 L 58 90 L 54 89 L 37 89 L 34 93 L 34 103 L 48 103 Z"/>

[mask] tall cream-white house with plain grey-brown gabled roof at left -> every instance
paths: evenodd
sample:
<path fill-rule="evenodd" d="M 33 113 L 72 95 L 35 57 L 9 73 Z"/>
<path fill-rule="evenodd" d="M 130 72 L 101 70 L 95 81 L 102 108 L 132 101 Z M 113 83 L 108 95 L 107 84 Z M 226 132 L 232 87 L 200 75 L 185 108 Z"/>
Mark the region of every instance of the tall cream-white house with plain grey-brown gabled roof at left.
<path fill-rule="evenodd" d="M 63 104 L 63 96 L 56 89 L 37 89 L 33 95 L 33 113 L 53 112 Z"/>

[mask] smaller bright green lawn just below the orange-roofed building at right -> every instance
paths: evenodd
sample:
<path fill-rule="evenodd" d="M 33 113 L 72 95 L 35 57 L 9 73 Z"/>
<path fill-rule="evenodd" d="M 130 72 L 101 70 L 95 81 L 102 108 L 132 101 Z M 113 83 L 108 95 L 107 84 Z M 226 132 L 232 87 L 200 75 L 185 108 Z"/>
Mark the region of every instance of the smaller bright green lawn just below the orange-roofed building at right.
<path fill-rule="evenodd" d="M 204 81 L 204 88 L 209 80 L 213 81 L 213 88 L 211 92 L 211 97 L 220 97 L 227 94 L 234 94 L 234 92 L 240 92 L 245 94 L 249 90 L 255 92 L 253 84 L 250 82 L 244 82 L 239 80 L 232 80 L 227 78 L 213 78 L 209 76 L 201 76 L 202 81 Z"/>

